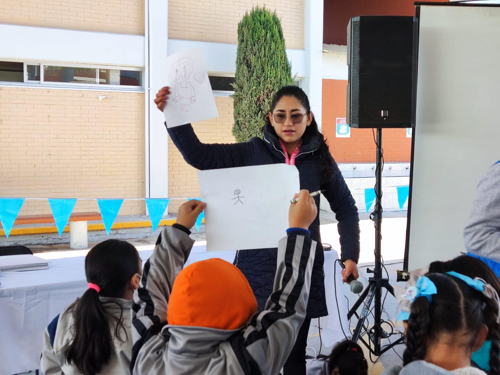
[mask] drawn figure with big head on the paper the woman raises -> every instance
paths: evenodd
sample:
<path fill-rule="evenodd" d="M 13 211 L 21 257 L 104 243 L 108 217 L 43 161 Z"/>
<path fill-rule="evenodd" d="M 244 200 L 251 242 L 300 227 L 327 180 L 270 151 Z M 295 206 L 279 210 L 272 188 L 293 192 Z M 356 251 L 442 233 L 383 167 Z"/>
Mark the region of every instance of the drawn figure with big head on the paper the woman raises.
<path fill-rule="evenodd" d="M 175 83 L 173 88 L 173 101 L 180 101 L 180 110 L 189 112 L 191 104 L 196 101 L 196 92 L 189 82 L 192 73 L 193 62 L 189 57 L 182 57 L 175 61 L 170 69 L 168 77 Z"/>

